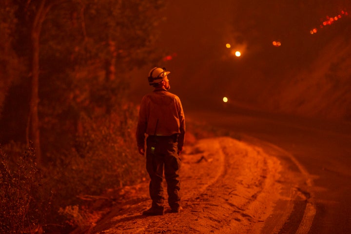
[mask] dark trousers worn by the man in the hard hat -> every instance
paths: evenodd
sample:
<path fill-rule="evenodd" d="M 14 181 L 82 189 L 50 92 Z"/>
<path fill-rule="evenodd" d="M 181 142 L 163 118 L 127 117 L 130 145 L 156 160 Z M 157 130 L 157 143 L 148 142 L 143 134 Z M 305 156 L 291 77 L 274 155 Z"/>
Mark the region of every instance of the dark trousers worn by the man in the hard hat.
<path fill-rule="evenodd" d="M 163 207 L 163 169 L 167 182 L 168 204 L 171 208 L 179 207 L 180 202 L 180 179 L 179 169 L 181 165 L 177 154 L 177 136 L 170 137 L 149 136 L 146 140 L 146 170 L 150 176 L 149 192 L 152 199 L 152 207 Z"/>

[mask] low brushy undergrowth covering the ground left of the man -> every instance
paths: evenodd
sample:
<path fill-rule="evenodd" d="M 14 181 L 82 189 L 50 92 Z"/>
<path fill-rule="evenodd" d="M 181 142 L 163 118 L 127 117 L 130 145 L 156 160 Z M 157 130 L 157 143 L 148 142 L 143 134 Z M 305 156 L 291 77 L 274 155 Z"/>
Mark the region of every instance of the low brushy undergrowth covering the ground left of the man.
<path fill-rule="evenodd" d="M 30 227 L 40 227 L 45 232 L 53 228 L 62 231 L 67 224 L 86 227 L 96 222 L 99 214 L 91 211 L 89 202 L 81 197 L 103 195 L 107 190 L 136 184 L 147 176 L 144 158 L 136 150 L 136 121 L 137 108 L 133 104 L 115 108 L 110 115 L 82 114 L 82 132 L 74 147 L 51 152 L 48 155 L 51 163 L 40 170 L 33 149 L 21 156 L 22 145 L 5 145 L 0 165 L 1 212 L 6 214 L 1 219 L 3 230 L 27 230 L 27 214 L 33 223 Z M 19 160 L 15 161 L 16 158 Z M 44 209 L 48 200 L 50 209 Z M 14 206 L 21 207 L 16 208 L 21 212 L 11 212 L 17 211 Z M 55 227 L 47 226 L 46 222 Z"/>

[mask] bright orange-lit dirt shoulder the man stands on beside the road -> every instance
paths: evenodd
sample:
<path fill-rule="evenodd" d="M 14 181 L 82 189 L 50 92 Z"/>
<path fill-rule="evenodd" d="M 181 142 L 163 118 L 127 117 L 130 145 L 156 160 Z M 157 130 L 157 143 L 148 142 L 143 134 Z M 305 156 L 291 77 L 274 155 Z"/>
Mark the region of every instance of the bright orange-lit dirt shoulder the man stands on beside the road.
<path fill-rule="evenodd" d="M 289 176 L 273 151 L 268 155 L 262 148 L 230 137 L 198 140 L 184 149 L 182 162 L 180 214 L 141 215 L 151 204 L 146 179 L 145 183 L 125 188 L 125 199 L 87 232 L 254 234 L 264 229 L 273 233 L 291 213 L 292 200 L 299 197 L 299 181 L 292 181 L 296 176 Z M 271 215 L 278 200 L 286 201 L 285 212 L 272 225 Z M 268 219 L 271 225 L 267 225 Z"/>

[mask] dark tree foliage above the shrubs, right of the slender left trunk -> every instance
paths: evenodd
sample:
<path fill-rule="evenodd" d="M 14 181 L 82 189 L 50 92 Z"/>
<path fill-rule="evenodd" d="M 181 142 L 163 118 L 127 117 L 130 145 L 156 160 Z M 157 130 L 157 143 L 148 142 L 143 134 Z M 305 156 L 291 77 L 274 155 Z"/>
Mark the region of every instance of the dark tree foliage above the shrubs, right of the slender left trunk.
<path fill-rule="evenodd" d="M 162 0 L 55 5 L 43 24 L 50 30 L 41 34 L 40 64 L 50 71 L 41 73 L 39 89 L 44 152 L 70 148 L 81 115 L 109 115 L 123 105 L 128 71 L 159 56 L 153 43 L 163 5 Z"/>

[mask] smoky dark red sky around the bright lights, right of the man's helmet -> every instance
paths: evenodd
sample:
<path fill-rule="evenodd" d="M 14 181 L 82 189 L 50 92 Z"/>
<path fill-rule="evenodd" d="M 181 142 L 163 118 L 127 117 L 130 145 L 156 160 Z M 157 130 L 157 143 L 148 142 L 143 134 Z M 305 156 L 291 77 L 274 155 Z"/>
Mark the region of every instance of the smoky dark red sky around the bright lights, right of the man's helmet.
<path fill-rule="evenodd" d="M 339 3 L 337 3 L 339 2 Z M 220 98 L 226 93 L 248 99 L 264 85 L 305 69 L 321 39 L 309 31 L 351 1 L 177 0 L 160 17 L 158 45 L 168 51 L 172 91 L 181 97 Z M 281 47 L 272 45 L 281 41 Z M 226 43 L 232 47 L 226 48 Z M 232 50 L 240 50 L 236 58 Z M 144 73 L 147 73 L 146 68 Z M 147 91 L 148 87 L 144 90 Z"/>

